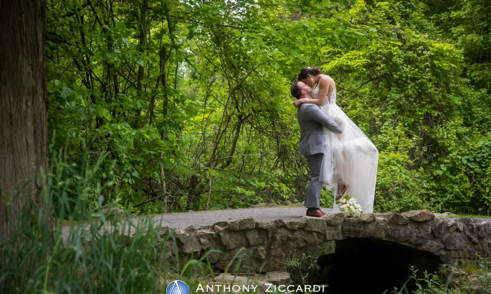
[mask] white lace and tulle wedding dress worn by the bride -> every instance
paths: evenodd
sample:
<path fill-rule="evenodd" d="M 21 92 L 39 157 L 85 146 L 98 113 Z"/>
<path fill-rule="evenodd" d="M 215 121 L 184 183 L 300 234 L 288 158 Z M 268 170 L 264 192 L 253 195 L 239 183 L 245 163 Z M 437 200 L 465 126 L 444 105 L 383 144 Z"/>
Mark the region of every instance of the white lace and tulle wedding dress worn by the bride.
<path fill-rule="evenodd" d="M 317 99 L 319 87 L 312 91 Z M 375 199 L 375 181 L 379 151 L 372 141 L 353 123 L 336 105 L 336 91 L 326 97 L 321 109 L 343 130 L 342 134 L 333 133 L 324 128 L 326 152 L 322 162 L 320 180 L 328 190 L 334 189 L 337 195 L 337 183 L 349 185 L 345 195 L 356 196 L 358 204 L 364 207 L 364 213 L 373 212 Z M 334 211 L 339 211 L 334 202 Z"/>

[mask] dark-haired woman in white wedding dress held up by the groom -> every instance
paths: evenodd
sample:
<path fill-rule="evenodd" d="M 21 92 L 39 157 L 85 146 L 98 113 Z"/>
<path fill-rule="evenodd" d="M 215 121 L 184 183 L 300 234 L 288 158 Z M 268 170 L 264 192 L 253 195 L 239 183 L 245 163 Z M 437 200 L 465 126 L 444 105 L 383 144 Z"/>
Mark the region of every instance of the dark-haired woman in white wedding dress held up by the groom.
<path fill-rule="evenodd" d="M 336 134 L 324 129 L 329 150 L 324 153 L 320 180 L 328 190 L 334 189 L 336 200 L 345 194 L 356 196 L 358 204 L 365 208 L 364 213 L 373 212 L 379 160 L 377 148 L 336 105 L 336 84 L 330 76 L 322 74 L 321 69 L 306 67 L 302 68 L 298 79 L 314 90 L 312 99 L 298 99 L 295 107 L 301 103 L 314 103 L 343 130 L 342 134 Z M 339 211 L 336 204 L 334 211 Z"/>

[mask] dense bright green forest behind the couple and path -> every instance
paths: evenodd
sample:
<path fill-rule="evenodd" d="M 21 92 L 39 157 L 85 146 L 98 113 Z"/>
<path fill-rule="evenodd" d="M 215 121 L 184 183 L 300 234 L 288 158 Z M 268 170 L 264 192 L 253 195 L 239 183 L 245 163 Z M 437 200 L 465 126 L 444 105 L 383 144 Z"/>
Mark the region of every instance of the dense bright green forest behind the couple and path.
<path fill-rule="evenodd" d="M 94 208 L 303 201 L 289 87 L 318 66 L 379 149 L 378 212 L 490 214 L 489 1 L 51 0 L 46 13 L 51 152 L 92 164 Z"/>

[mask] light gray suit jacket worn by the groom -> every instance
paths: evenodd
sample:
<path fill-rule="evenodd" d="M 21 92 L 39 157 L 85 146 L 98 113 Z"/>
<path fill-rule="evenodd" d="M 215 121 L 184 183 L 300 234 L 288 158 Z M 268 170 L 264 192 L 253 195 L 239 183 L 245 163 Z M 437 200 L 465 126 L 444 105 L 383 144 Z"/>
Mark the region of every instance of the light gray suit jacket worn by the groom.
<path fill-rule="evenodd" d="M 324 153 L 326 146 L 323 127 L 334 133 L 342 133 L 339 125 L 315 104 L 300 104 L 297 120 L 300 124 L 300 155 L 305 157 Z"/>

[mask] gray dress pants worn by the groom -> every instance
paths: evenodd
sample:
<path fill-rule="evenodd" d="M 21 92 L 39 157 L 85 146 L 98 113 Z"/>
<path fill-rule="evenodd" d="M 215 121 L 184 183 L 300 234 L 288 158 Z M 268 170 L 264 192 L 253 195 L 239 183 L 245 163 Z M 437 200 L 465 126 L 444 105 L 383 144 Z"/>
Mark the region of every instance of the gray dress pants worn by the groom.
<path fill-rule="evenodd" d="M 319 180 L 319 174 L 321 173 L 324 153 L 317 153 L 305 158 L 307 159 L 307 166 L 310 176 L 307 195 L 305 196 L 305 207 L 320 208 L 322 182 Z"/>

